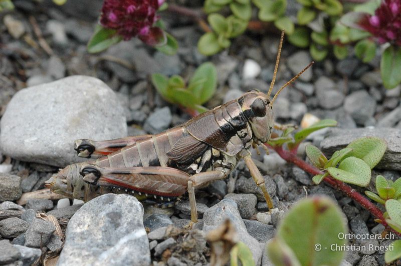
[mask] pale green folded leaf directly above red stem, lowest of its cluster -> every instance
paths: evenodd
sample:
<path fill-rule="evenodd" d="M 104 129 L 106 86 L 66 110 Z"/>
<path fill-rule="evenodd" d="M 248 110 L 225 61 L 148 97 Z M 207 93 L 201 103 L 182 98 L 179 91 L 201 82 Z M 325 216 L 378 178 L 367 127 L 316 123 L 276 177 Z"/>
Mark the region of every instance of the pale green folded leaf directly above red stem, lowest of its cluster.
<path fill-rule="evenodd" d="M 338 168 L 328 167 L 327 171 L 335 179 L 359 186 L 367 186 L 371 175 L 369 165 L 357 157 L 347 157 Z"/>

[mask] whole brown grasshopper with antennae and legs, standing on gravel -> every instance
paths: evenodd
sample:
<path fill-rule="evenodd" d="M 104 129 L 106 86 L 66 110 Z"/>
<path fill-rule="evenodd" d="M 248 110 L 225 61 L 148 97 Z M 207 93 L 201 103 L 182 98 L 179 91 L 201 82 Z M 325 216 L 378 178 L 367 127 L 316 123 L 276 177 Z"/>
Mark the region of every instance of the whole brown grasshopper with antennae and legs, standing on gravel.
<path fill-rule="evenodd" d="M 265 181 L 251 158 L 250 147 L 269 140 L 275 126 L 270 100 L 284 35 L 281 35 L 273 79 L 267 94 L 250 90 L 238 99 L 202 113 L 186 123 L 155 135 L 93 141 L 79 139 L 75 149 L 81 157 L 102 156 L 75 163 L 45 182 L 56 193 L 85 201 L 104 193 L 130 193 L 139 200 L 173 205 L 189 194 L 191 223 L 197 222 L 194 189 L 226 178 L 243 158 L 267 205 L 273 202 Z"/>

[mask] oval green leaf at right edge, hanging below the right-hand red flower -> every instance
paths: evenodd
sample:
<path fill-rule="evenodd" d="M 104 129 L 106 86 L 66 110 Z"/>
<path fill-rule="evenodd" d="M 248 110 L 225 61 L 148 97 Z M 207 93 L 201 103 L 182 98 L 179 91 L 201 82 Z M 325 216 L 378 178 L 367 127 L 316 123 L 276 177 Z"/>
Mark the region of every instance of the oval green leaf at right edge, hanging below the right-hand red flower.
<path fill-rule="evenodd" d="M 380 60 L 380 73 L 385 88 L 393 88 L 401 82 L 401 47 L 388 46 Z"/>

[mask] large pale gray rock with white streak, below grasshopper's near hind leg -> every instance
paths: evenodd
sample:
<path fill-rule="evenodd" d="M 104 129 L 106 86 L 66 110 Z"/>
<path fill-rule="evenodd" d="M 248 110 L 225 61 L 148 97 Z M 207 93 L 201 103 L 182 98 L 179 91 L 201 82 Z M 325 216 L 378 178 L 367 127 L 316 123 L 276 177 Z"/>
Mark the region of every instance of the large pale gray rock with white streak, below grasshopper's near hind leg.
<path fill-rule="evenodd" d="M 142 218 L 143 206 L 131 195 L 88 201 L 68 223 L 58 265 L 149 265 Z"/>

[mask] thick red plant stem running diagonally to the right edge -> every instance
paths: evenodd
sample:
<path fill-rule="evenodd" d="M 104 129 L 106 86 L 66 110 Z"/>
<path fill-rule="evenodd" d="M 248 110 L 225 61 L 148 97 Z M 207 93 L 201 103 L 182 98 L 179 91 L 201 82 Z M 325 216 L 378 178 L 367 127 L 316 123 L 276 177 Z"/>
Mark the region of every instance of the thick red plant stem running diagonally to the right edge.
<path fill-rule="evenodd" d="M 274 150 L 286 161 L 292 162 L 295 165 L 299 166 L 301 169 L 311 173 L 311 174 L 323 174 L 321 170 L 316 168 L 315 166 L 307 163 L 303 159 L 296 156 L 296 154 L 292 151 L 283 149 L 282 146 L 274 147 Z M 341 182 L 340 180 L 334 179 L 333 177 L 325 177 L 323 179 L 326 183 L 331 185 L 332 187 L 344 192 L 347 196 L 358 202 L 362 207 L 367 209 L 376 219 L 379 220 L 381 224 L 383 224 L 386 229 L 392 231 L 394 234 L 401 236 L 401 233 L 392 229 L 386 222 L 381 210 L 376 207 L 371 201 L 369 201 L 366 197 L 361 195 L 358 191 L 354 188 L 350 187 L 349 185 Z"/>

